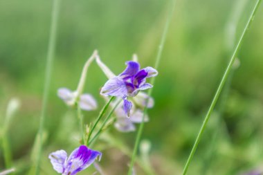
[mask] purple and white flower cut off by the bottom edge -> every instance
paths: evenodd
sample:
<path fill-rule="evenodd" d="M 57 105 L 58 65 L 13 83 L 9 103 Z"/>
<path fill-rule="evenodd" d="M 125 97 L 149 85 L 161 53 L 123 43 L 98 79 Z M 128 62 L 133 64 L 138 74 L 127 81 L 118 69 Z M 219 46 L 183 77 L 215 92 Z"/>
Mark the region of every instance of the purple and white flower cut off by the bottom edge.
<path fill-rule="evenodd" d="M 81 145 L 72 151 L 69 158 L 67 158 L 66 151 L 58 150 L 49 154 L 51 164 L 56 172 L 63 175 L 74 175 L 86 169 L 91 165 L 96 158 L 100 160 L 102 154 L 99 151 L 89 149 L 85 145 Z"/>

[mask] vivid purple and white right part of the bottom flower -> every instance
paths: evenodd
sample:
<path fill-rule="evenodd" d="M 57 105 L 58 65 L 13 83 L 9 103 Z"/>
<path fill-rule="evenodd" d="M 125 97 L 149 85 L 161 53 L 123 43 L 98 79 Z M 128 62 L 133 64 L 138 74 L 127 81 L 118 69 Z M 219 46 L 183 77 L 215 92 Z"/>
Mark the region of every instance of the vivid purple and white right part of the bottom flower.
<path fill-rule="evenodd" d="M 94 151 L 85 145 L 81 145 L 72 151 L 69 159 L 66 161 L 65 174 L 77 174 L 83 169 L 89 167 L 89 165 L 91 165 L 97 157 L 99 157 L 100 160 L 101 156 L 102 154 L 99 151 Z"/>

